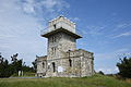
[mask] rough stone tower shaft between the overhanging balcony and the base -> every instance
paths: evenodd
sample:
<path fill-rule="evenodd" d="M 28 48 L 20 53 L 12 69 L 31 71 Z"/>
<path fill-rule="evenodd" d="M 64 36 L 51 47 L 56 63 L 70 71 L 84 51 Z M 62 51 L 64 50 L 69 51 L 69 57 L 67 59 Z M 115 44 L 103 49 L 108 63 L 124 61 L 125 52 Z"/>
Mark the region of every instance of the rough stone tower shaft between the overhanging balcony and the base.
<path fill-rule="evenodd" d="M 75 50 L 76 40 L 66 33 L 58 33 L 48 38 L 48 59 L 63 58 L 68 50 Z"/>

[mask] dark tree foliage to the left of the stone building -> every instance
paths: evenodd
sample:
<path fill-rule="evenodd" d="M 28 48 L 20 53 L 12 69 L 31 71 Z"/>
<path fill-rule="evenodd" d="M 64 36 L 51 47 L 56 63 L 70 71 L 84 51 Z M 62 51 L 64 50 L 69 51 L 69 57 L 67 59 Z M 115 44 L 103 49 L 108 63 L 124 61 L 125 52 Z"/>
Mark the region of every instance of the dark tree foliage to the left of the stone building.
<path fill-rule="evenodd" d="M 19 53 L 11 57 L 11 63 L 3 58 L 0 53 L 0 77 L 10 77 L 11 75 L 17 75 L 19 71 L 34 72 L 33 67 L 26 66 L 22 59 L 17 59 Z"/>

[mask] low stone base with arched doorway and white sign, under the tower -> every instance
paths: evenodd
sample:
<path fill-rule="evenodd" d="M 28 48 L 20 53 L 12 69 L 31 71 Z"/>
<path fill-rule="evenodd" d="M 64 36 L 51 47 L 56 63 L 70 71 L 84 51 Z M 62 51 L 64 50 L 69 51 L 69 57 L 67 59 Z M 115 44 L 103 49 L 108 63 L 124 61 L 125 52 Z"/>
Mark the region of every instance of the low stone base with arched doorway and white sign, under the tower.
<path fill-rule="evenodd" d="M 71 60 L 71 61 L 70 61 Z M 94 57 L 84 50 L 68 51 L 66 58 L 46 61 L 45 77 L 83 77 L 94 74 Z M 44 61 L 44 60 L 43 60 Z M 45 70 L 39 65 L 39 70 Z"/>

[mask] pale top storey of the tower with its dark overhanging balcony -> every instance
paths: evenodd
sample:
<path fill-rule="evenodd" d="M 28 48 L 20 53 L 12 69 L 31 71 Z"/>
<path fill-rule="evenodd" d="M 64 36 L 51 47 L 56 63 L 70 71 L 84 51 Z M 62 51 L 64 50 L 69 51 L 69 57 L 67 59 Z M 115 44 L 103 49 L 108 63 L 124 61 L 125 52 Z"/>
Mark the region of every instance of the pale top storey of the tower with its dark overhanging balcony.
<path fill-rule="evenodd" d="M 71 22 L 70 20 L 63 16 L 59 16 L 50 21 L 48 27 L 41 30 L 41 36 L 48 38 L 49 36 L 60 32 L 69 34 L 70 36 L 73 36 L 76 39 L 81 38 L 81 36 L 78 35 L 78 32 L 75 29 L 75 23 Z"/>

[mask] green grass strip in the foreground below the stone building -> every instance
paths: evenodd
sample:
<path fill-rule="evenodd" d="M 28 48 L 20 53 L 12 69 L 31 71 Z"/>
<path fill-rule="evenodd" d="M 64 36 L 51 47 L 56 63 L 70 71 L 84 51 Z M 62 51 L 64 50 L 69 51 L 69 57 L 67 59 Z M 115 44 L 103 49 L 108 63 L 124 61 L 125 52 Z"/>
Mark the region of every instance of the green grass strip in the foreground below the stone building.
<path fill-rule="evenodd" d="M 131 87 L 131 84 L 114 77 L 94 75 L 82 78 L 0 78 L 0 87 Z"/>

